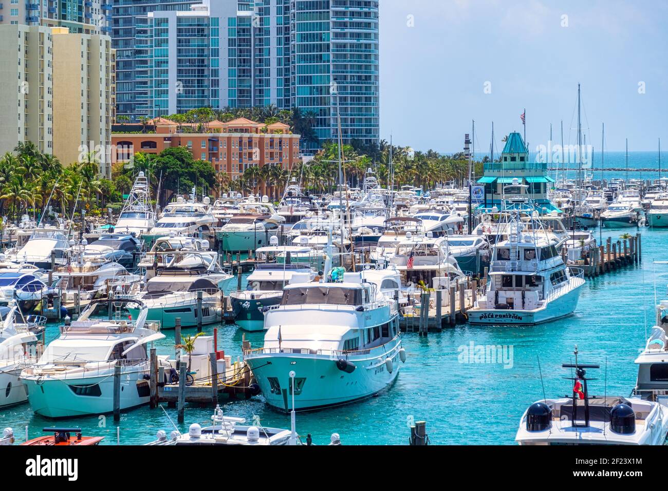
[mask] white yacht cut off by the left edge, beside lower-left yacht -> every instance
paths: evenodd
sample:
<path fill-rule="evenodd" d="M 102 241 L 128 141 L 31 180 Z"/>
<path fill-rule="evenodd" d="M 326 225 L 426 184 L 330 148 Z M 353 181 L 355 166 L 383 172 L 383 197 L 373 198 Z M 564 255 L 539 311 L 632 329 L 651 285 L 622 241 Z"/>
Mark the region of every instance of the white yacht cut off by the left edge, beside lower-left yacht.
<path fill-rule="evenodd" d="M 19 375 L 27 365 L 37 361 L 37 336 L 22 317 L 13 305 L 0 327 L 0 407 L 28 399 Z"/>

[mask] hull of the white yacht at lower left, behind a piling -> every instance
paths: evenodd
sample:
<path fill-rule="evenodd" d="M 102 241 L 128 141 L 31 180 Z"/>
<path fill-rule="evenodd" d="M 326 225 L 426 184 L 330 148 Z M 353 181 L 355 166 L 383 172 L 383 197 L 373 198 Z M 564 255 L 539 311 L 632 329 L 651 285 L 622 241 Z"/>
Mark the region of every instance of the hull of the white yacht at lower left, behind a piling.
<path fill-rule="evenodd" d="M 132 367 L 121 375 L 121 410 L 148 403 L 150 387 L 144 380 L 144 372 Z M 148 366 L 144 367 L 148 370 Z M 61 379 L 54 377 L 30 377 L 23 379 L 27 388 L 28 401 L 33 411 L 46 418 L 72 418 L 88 414 L 107 414 L 114 411 L 113 371 L 96 377 Z M 80 387 L 93 387 L 89 393 L 99 395 L 79 395 Z M 94 388 L 98 387 L 98 388 Z"/>

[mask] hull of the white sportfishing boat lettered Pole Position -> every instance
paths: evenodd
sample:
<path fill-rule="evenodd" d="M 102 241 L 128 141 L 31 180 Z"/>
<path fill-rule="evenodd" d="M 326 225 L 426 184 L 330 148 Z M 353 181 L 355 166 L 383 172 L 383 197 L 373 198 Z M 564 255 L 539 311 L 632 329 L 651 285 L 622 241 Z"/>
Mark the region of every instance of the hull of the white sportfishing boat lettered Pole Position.
<path fill-rule="evenodd" d="M 580 289 L 578 287 L 556 297 L 548 302 L 542 309 L 534 311 L 526 310 L 500 310 L 500 309 L 471 309 L 468 311 L 468 321 L 471 324 L 485 325 L 536 325 L 544 322 L 555 321 L 571 315 L 578 306 Z"/>

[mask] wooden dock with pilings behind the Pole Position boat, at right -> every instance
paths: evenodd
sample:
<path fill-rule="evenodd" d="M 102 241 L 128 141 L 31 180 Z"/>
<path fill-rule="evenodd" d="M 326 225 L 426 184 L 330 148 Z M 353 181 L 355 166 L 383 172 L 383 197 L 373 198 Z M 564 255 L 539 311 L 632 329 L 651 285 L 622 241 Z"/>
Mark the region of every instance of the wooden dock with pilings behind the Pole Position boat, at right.
<path fill-rule="evenodd" d="M 562 247 L 562 257 L 566 258 L 568 250 Z M 617 242 L 608 237 L 605 244 L 592 247 L 582 254 L 582 259 L 575 261 L 575 267 L 585 271 L 585 277 L 595 278 L 610 271 L 616 271 L 628 265 L 638 265 L 643 258 L 643 241 L 641 234 L 628 238 L 620 238 Z M 565 263 L 564 259 L 564 263 Z"/>

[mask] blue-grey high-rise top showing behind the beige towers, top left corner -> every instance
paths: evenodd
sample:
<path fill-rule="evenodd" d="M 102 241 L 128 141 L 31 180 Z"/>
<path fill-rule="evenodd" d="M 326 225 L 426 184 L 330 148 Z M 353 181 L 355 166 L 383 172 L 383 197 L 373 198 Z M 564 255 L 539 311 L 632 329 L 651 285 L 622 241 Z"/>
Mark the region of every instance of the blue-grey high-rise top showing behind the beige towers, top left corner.
<path fill-rule="evenodd" d="M 0 25 L 67 27 L 72 33 L 109 34 L 112 0 L 7 0 L 0 3 Z"/>

